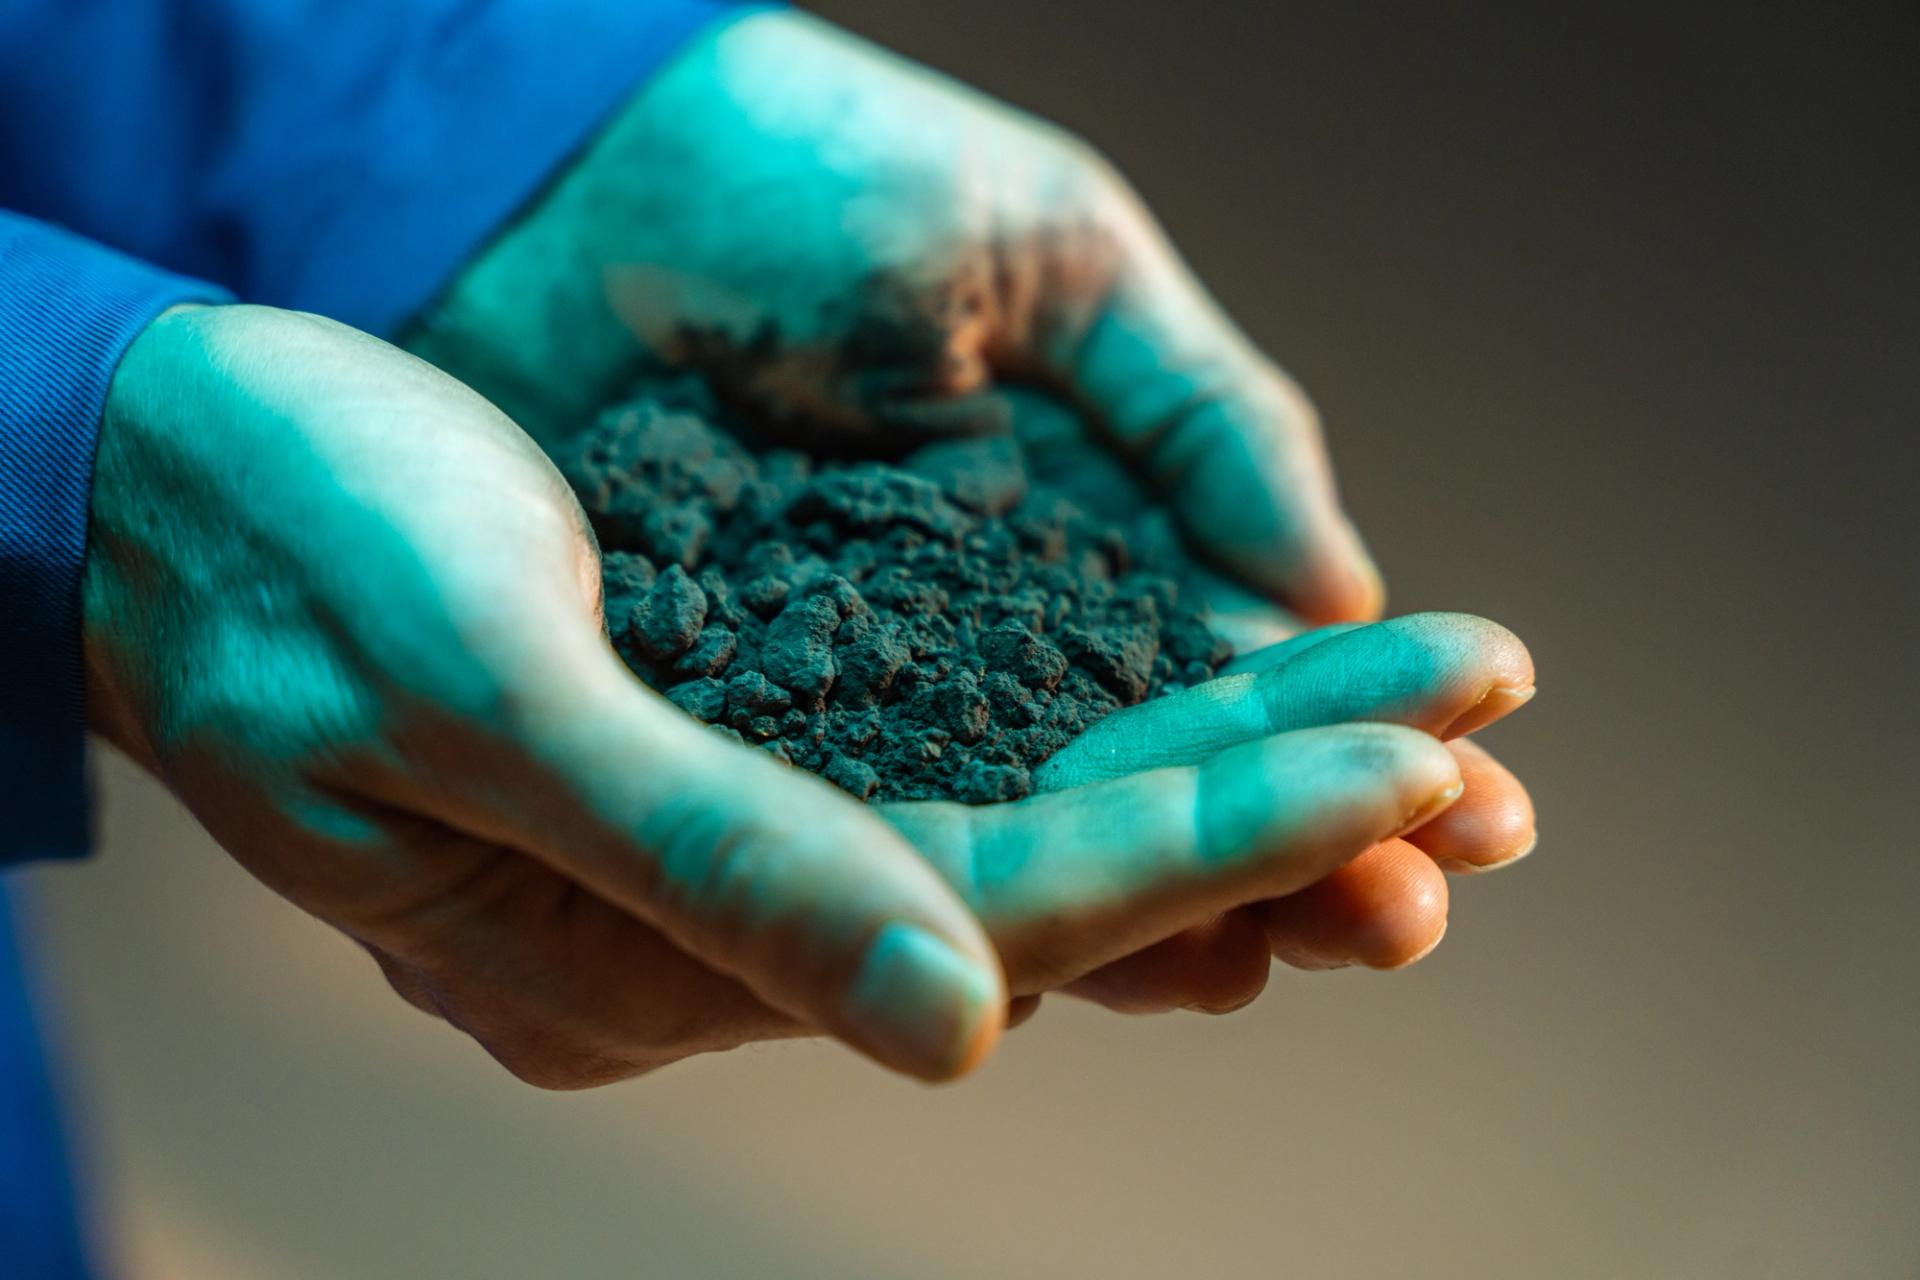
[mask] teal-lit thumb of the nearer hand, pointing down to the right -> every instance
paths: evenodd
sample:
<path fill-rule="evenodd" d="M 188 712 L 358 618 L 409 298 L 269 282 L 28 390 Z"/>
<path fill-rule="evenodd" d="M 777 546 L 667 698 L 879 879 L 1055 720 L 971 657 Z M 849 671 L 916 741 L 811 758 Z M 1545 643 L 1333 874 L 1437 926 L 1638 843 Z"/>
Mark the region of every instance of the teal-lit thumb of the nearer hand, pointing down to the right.
<path fill-rule="evenodd" d="M 495 839 L 887 1067 L 947 1080 L 993 1050 L 998 956 L 912 844 L 693 723 L 611 651 L 589 670 L 516 712 L 543 785 L 497 789 L 516 806 L 490 808 Z"/>

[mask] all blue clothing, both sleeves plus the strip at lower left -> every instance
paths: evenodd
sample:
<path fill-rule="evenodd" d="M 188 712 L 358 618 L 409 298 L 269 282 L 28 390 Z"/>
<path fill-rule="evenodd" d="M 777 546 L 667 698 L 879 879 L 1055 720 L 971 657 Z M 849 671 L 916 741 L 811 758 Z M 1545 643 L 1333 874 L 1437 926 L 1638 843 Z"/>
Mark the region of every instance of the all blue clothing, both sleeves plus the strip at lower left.
<path fill-rule="evenodd" d="M 394 332 L 735 10 L 0 0 L 0 864 L 86 848 L 88 487 L 140 328 L 225 286 Z M 17 960 L 0 923 L 0 1276 L 65 1280 L 86 1267 Z"/>

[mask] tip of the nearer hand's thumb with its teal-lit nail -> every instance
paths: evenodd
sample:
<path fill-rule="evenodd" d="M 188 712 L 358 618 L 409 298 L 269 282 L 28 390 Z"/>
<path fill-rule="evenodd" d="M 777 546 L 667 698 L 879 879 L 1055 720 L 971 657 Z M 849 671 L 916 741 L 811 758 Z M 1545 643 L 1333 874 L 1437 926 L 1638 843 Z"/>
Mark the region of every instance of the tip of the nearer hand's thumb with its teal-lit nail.
<path fill-rule="evenodd" d="M 998 975 L 897 921 L 868 948 L 845 1015 L 852 1040 L 889 1067 L 950 1080 L 985 1057 L 1004 1000 Z"/>

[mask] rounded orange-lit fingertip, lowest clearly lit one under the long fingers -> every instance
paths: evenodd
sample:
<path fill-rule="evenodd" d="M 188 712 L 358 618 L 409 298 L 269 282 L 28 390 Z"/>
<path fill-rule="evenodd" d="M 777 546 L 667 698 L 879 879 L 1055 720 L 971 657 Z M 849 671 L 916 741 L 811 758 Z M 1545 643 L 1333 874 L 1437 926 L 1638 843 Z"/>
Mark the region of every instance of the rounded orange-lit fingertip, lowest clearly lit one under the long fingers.
<path fill-rule="evenodd" d="M 1309 889 L 1260 904 L 1273 954 L 1296 969 L 1402 969 L 1446 935 L 1446 875 L 1384 841 Z"/>

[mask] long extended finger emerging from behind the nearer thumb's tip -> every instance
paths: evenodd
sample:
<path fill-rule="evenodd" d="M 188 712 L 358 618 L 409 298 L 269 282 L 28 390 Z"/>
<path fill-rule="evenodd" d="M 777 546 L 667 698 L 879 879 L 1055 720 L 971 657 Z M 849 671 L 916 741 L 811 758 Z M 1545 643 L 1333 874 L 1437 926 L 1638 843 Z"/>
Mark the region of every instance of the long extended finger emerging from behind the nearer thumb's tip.
<path fill-rule="evenodd" d="M 1432 737 L 1338 725 L 1016 804 L 883 812 L 960 887 L 1027 992 L 1304 889 L 1457 796 Z"/>

